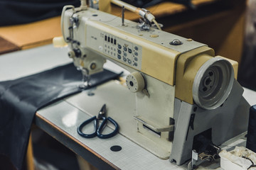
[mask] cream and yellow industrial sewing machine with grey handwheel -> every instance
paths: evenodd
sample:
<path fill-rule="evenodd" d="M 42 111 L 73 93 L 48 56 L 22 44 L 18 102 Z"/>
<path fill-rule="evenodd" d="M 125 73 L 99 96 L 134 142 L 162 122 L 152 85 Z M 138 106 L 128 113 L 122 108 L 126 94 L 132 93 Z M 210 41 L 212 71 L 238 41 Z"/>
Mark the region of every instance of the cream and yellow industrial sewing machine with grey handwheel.
<path fill-rule="evenodd" d="M 235 79 L 237 62 L 215 57 L 200 42 L 85 4 L 65 6 L 61 24 L 68 55 L 86 77 L 101 72 L 106 60 L 130 72 L 127 87 L 110 82 L 95 96 L 120 107 L 108 111 L 120 133 L 156 157 L 181 165 L 193 153 L 195 166 L 215 159 L 218 145 L 247 130 L 250 106 Z M 84 95 L 79 102 L 90 100 Z"/>

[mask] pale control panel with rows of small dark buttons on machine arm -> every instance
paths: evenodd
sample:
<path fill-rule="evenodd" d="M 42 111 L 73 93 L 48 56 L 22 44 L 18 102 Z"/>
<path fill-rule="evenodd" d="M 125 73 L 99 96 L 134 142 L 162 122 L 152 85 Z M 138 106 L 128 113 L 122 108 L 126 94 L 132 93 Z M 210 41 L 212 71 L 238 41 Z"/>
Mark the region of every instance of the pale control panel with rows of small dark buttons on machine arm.
<path fill-rule="evenodd" d="M 142 46 L 123 40 L 92 26 L 87 26 L 86 32 L 87 47 L 97 50 L 123 64 L 127 64 L 134 69 L 141 70 Z"/>

